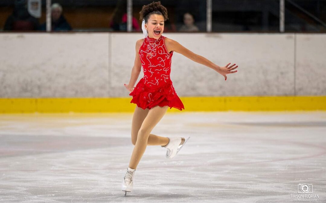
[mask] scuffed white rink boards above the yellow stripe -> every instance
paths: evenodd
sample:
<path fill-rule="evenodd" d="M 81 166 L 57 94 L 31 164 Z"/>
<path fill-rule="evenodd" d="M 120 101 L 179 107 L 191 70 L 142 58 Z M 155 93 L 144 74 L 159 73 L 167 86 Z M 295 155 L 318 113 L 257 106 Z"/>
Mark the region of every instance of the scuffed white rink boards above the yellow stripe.
<path fill-rule="evenodd" d="M 219 66 L 239 66 L 225 81 L 174 52 L 171 80 L 179 96 L 326 95 L 325 34 L 163 35 Z M 124 83 L 130 80 L 136 40 L 142 37 L 0 33 L 0 97 L 128 97 Z"/>

